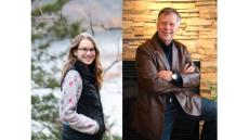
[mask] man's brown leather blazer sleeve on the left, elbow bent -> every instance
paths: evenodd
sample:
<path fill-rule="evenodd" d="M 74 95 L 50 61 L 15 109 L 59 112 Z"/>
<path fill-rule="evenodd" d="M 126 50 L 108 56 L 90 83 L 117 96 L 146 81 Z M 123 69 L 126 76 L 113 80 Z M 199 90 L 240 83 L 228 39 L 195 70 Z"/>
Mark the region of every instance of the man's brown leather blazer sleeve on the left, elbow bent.
<path fill-rule="evenodd" d="M 158 77 L 157 63 L 149 50 L 144 47 L 139 47 L 135 55 L 135 67 L 139 80 L 139 86 L 143 87 L 148 93 L 162 94 L 173 91 L 180 91 L 181 88 L 171 81 L 167 81 Z"/>

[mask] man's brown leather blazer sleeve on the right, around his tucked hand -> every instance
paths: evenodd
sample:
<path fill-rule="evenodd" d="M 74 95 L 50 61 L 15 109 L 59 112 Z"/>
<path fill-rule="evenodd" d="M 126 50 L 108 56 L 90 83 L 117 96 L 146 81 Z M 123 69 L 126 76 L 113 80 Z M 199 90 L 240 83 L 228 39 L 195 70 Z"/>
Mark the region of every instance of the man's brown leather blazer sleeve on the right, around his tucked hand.
<path fill-rule="evenodd" d="M 188 51 L 186 49 L 184 49 L 184 56 L 185 56 L 185 63 L 189 64 L 192 66 L 195 67 L 195 72 L 194 73 L 189 73 L 189 74 L 184 74 L 180 72 L 180 75 L 182 77 L 183 80 L 183 87 L 184 88 L 191 88 L 191 87 L 197 87 L 199 85 L 200 81 L 200 74 L 199 74 L 199 68 L 193 63 L 192 59 L 191 59 L 191 54 L 188 53 Z M 184 66 L 182 66 L 184 67 Z"/>

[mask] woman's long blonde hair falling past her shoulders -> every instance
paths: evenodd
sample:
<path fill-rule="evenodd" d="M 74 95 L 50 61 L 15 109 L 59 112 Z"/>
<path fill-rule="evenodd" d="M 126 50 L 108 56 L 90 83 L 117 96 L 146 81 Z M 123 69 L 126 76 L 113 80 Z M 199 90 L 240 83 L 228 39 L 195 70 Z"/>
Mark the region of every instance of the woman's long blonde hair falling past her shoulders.
<path fill-rule="evenodd" d="M 93 67 L 94 76 L 96 78 L 96 86 L 99 89 L 101 89 L 102 82 L 103 82 L 103 68 L 102 68 L 101 61 L 100 61 L 100 51 L 96 47 L 96 42 L 94 41 L 93 37 L 88 33 L 79 34 L 73 39 L 73 42 L 69 48 L 67 61 L 65 62 L 63 69 L 62 69 L 62 80 L 65 77 L 66 73 L 71 68 L 71 66 L 75 65 L 77 58 L 74 54 L 74 51 L 78 49 L 80 41 L 84 39 L 90 40 L 93 43 L 94 49 L 95 49 L 95 59 L 90 66 Z"/>

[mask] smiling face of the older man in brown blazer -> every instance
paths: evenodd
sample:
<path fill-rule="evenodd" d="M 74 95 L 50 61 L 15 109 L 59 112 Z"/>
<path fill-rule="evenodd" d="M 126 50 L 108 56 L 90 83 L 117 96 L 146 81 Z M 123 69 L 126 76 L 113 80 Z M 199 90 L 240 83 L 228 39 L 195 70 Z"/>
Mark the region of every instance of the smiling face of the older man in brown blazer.
<path fill-rule="evenodd" d="M 158 37 L 169 44 L 179 29 L 178 16 L 173 13 L 161 14 L 157 21 Z"/>

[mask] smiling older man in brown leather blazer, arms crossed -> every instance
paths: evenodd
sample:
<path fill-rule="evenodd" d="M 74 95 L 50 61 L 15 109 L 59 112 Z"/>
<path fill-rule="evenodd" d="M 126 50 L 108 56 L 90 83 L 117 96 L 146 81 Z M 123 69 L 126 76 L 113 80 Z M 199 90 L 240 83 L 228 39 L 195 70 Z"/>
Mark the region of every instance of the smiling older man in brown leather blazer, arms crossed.
<path fill-rule="evenodd" d="M 217 140 L 217 103 L 188 89 L 199 85 L 200 74 L 186 47 L 173 37 L 181 24 L 176 10 L 158 14 L 157 31 L 136 50 L 139 97 L 133 126 L 149 140 L 170 140 L 179 116 L 204 119 L 202 140 Z"/>

